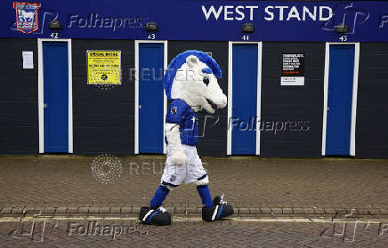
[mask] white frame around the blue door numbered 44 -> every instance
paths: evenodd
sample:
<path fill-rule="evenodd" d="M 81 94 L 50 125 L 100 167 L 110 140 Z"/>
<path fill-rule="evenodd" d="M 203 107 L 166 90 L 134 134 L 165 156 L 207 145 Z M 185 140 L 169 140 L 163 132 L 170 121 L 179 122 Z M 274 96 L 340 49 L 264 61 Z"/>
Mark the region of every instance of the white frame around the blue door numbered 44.
<path fill-rule="evenodd" d="M 227 155 L 231 154 L 231 128 L 230 118 L 232 117 L 232 87 L 233 87 L 233 44 L 257 44 L 257 108 L 256 117 L 258 120 L 262 118 L 262 59 L 263 59 L 263 42 L 229 42 L 228 48 L 228 122 L 227 122 Z M 260 127 L 256 123 L 256 153 L 260 155 Z"/>

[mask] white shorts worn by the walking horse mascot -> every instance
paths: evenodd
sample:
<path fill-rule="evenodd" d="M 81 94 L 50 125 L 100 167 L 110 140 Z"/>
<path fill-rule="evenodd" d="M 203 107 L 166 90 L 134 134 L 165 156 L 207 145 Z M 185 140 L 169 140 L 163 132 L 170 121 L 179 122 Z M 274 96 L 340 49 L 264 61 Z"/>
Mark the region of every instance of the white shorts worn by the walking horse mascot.
<path fill-rule="evenodd" d="M 162 184 L 178 186 L 182 182 L 188 184 L 199 180 L 207 180 L 206 170 L 202 166 L 197 148 L 183 144 L 182 148 L 186 156 L 186 164 L 174 165 L 171 163 L 171 148 L 167 146 L 166 167 L 160 181 Z"/>

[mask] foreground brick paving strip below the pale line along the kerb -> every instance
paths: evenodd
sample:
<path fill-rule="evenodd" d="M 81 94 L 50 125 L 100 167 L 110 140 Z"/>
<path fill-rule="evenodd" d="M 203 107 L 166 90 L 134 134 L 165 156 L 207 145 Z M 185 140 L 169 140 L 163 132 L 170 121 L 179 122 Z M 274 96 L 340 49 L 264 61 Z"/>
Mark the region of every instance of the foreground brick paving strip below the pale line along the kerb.
<path fill-rule="evenodd" d="M 7 222 L 0 223 L 0 247 L 388 247 L 388 233 L 379 226 L 360 225 L 354 231 L 351 224 L 343 232 L 344 223 L 218 221 L 151 227 L 71 220 L 45 226 L 35 222 L 31 231 L 32 222 Z"/>

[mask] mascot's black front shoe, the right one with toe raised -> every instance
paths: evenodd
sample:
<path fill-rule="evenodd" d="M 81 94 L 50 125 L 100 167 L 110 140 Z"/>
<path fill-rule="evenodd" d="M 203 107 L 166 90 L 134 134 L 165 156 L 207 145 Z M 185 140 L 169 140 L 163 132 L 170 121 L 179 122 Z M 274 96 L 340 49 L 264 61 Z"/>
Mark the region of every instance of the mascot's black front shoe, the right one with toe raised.
<path fill-rule="evenodd" d="M 212 207 L 202 207 L 202 220 L 214 221 L 221 220 L 224 217 L 234 213 L 233 207 L 222 200 L 222 196 L 215 196 Z"/>

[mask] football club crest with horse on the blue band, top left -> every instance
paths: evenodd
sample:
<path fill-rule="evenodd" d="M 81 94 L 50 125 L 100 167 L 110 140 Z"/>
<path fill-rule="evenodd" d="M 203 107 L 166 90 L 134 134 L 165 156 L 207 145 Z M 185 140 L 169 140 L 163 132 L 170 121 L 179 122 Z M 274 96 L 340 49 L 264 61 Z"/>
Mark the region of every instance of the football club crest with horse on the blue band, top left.
<path fill-rule="evenodd" d="M 39 3 L 13 2 L 13 9 L 16 11 L 16 28 L 23 33 L 29 34 L 38 29 L 37 10 Z"/>

